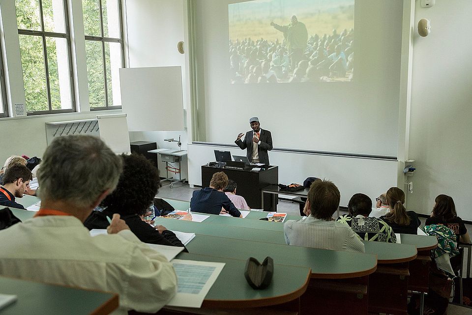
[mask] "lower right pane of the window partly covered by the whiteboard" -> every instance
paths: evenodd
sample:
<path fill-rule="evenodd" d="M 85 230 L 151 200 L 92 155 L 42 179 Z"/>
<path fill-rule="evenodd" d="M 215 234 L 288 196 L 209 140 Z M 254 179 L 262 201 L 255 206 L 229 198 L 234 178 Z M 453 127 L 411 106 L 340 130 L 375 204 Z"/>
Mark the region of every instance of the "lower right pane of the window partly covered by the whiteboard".
<path fill-rule="evenodd" d="M 119 68 L 123 65 L 120 43 L 105 43 L 105 60 L 107 62 L 108 106 L 121 106 Z"/>

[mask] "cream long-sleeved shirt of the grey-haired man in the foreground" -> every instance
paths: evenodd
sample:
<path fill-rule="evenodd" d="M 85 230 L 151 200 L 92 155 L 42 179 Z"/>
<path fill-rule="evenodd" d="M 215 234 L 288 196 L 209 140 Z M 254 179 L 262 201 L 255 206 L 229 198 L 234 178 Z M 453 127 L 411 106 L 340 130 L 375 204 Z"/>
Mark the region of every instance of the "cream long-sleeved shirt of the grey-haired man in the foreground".
<path fill-rule="evenodd" d="M 119 294 L 119 308 L 155 313 L 175 295 L 172 264 L 130 230 L 90 236 L 73 216 L 42 216 L 0 231 L 0 275 Z"/>

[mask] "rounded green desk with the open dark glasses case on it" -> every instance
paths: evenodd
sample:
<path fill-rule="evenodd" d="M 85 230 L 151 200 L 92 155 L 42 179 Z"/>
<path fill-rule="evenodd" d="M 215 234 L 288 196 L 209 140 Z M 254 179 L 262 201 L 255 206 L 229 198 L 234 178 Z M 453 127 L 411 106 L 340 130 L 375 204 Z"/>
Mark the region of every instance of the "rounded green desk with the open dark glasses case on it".
<path fill-rule="evenodd" d="M 249 286 L 244 277 L 245 259 L 190 253 L 180 253 L 177 258 L 226 263 L 205 297 L 202 304 L 204 308 L 247 308 L 282 304 L 302 295 L 310 279 L 310 268 L 283 265 L 274 260 L 272 282 L 265 289 L 255 290 Z"/>

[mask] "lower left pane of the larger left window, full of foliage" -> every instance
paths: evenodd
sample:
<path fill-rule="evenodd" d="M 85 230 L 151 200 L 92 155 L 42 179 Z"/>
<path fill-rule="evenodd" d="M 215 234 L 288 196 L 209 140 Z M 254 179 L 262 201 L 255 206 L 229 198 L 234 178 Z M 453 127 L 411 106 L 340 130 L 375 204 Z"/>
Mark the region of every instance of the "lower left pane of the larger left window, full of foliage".
<path fill-rule="evenodd" d="M 26 109 L 28 112 L 47 111 L 49 106 L 42 38 L 21 34 L 19 38 Z"/>

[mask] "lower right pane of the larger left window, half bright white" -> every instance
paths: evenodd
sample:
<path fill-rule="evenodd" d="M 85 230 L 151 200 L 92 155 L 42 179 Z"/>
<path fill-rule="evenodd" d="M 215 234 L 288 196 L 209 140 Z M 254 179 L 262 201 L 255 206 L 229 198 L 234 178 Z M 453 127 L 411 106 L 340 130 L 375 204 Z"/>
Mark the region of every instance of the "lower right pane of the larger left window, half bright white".
<path fill-rule="evenodd" d="M 51 108 L 53 110 L 71 109 L 72 96 L 67 40 L 58 37 L 46 37 L 46 49 L 48 52 Z"/>

